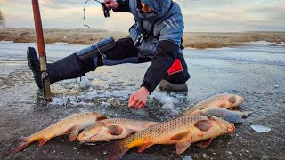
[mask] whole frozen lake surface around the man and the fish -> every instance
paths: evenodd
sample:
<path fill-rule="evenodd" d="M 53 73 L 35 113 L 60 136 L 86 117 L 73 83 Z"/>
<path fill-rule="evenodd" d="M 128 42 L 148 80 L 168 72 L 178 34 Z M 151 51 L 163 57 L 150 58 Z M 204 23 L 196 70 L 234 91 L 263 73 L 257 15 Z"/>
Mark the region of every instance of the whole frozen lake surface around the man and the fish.
<path fill-rule="evenodd" d="M 276 45 L 276 44 L 275 44 Z M 282 159 L 285 157 L 285 47 L 265 42 L 221 49 L 185 49 L 191 73 L 188 93 L 153 92 L 147 108 L 127 107 L 127 100 L 142 83 L 150 65 L 124 64 L 101 67 L 84 77 L 51 85 L 53 102 L 46 104 L 28 68 L 26 49 L 37 44 L 0 42 L 0 159 L 102 159 L 91 146 L 67 136 L 38 148 L 33 143 L 24 152 L 11 155 L 15 138 L 28 136 L 72 113 L 95 111 L 110 117 L 165 121 L 193 104 L 217 93 L 243 96 L 241 110 L 253 111 L 236 132 L 212 140 L 207 148 L 191 145 L 183 154 L 175 146 L 156 145 L 137 154 L 131 149 L 123 159 Z M 86 45 L 46 44 L 47 60 L 60 60 Z M 269 132 L 256 132 L 262 125 Z"/>

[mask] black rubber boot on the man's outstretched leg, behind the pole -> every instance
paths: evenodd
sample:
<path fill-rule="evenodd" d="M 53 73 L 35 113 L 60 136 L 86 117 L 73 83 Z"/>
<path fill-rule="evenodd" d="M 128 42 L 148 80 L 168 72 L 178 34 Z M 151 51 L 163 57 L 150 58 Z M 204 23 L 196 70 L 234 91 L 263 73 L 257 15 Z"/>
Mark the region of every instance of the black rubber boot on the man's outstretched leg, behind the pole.
<path fill-rule="evenodd" d="M 29 68 L 34 73 L 34 79 L 38 88 L 43 88 L 37 52 L 32 47 L 28 47 L 27 60 Z M 54 63 L 47 64 L 47 74 L 50 78 L 50 83 L 53 84 L 64 79 L 84 76 L 85 72 L 94 69 L 94 67 L 86 68 L 82 63 L 83 62 L 79 60 L 77 54 L 74 53 Z"/>

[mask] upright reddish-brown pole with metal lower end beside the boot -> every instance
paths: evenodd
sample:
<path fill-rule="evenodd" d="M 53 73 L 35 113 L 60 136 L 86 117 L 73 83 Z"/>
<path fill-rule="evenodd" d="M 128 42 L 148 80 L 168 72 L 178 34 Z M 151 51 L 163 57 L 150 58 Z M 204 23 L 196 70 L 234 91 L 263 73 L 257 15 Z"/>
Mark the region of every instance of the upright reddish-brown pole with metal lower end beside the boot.
<path fill-rule="evenodd" d="M 51 94 L 51 89 L 50 89 L 50 79 L 47 74 L 47 68 L 46 68 L 45 41 L 44 41 L 42 20 L 41 20 L 41 14 L 39 11 L 38 0 L 32 0 L 32 4 L 33 4 L 36 36 L 37 36 L 37 49 L 38 49 L 38 55 L 39 55 L 40 68 L 42 72 L 42 82 L 43 82 L 43 88 L 44 88 L 45 101 L 52 101 L 52 94 Z"/>

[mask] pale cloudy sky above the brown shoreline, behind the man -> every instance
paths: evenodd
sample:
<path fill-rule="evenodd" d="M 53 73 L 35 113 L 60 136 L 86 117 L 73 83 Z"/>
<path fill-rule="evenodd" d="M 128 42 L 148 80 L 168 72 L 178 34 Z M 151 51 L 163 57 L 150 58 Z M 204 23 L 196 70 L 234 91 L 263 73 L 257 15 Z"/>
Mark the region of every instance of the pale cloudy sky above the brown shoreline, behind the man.
<path fill-rule="evenodd" d="M 176 0 L 183 12 L 185 31 L 285 31 L 285 0 Z M 39 0 L 43 28 L 84 28 L 85 0 Z M 31 0 L 0 0 L 6 26 L 34 28 Z M 91 28 L 124 31 L 134 23 L 130 13 L 102 15 L 90 0 L 86 23 Z M 0 28 L 1 29 L 1 28 Z"/>

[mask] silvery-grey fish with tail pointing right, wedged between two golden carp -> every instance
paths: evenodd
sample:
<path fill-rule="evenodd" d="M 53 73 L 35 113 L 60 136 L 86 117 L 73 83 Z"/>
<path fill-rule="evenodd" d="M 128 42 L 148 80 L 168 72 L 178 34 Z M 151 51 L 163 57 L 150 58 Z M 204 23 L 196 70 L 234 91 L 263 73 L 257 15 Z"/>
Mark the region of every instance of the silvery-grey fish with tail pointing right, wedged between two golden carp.
<path fill-rule="evenodd" d="M 202 110 L 196 110 L 191 115 L 202 115 L 202 116 L 216 116 L 228 121 L 232 124 L 242 123 L 242 119 L 246 116 L 249 116 L 253 112 L 249 111 L 236 111 L 236 110 L 228 110 L 226 108 L 205 108 Z"/>

